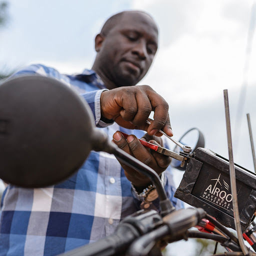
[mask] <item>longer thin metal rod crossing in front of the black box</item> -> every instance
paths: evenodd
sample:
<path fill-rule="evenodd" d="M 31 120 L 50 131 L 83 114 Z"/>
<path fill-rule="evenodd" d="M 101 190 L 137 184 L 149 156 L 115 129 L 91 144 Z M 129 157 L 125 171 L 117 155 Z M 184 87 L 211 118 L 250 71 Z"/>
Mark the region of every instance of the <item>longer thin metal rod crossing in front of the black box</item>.
<path fill-rule="evenodd" d="M 242 253 L 244 255 L 247 255 L 248 250 L 244 245 L 243 238 L 242 238 L 242 230 L 240 225 L 240 217 L 239 217 L 238 203 L 237 203 L 237 191 L 236 191 L 236 182 L 235 182 L 235 171 L 234 171 L 234 161 L 233 161 L 233 151 L 232 151 L 231 125 L 230 125 L 227 89 L 224 89 L 223 93 L 224 93 L 224 105 L 225 105 L 228 157 L 229 157 L 229 173 L 230 173 L 232 203 L 233 203 L 233 212 L 234 212 L 234 224 L 235 224 L 235 229 L 237 232 L 237 237 L 238 237 L 238 241 L 239 241 L 239 245 L 241 247 Z"/>

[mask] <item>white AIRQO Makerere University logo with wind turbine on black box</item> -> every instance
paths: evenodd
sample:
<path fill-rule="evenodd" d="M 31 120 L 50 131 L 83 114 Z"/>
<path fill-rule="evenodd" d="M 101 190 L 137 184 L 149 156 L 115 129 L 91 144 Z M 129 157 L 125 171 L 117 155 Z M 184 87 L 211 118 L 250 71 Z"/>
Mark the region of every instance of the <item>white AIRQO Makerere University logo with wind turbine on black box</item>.
<path fill-rule="evenodd" d="M 223 178 L 222 180 L 220 179 L 220 173 L 217 178 L 210 179 L 206 184 L 207 187 L 205 186 L 205 189 L 201 192 L 200 197 L 230 211 L 232 194 L 229 190 L 228 183 L 224 181 Z"/>

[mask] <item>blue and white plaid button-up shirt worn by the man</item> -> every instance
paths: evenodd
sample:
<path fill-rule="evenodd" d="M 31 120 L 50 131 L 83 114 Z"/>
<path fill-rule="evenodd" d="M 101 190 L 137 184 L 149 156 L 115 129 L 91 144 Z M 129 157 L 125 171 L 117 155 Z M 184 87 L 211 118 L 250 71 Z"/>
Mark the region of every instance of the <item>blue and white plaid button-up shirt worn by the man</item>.
<path fill-rule="evenodd" d="M 141 137 L 100 120 L 100 93 L 105 86 L 92 70 L 60 74 L 44 65 L 31 65 L 16 75 L 41 74 L 61 80 L 88 102 L 95 124 L 109 139 L 116 130 Z M 171 171 L 165 171 L 165 189 L 176 208 Z M 8 185 L 1 202 L 0 255 L 56 255 L 111 234 L 120 219 L 139 209 L 140 201 L 113 155 L 92 151 L 82 167 L 66 181 L 36 189 Z"/>

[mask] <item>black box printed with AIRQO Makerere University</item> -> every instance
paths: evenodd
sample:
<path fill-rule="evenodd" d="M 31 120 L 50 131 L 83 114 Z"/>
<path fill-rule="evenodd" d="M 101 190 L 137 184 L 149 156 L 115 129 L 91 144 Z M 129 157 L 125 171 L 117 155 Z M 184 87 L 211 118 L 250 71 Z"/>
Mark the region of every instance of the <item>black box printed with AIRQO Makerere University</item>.
<path fill-rule="evenodd" d="M 240 223 L 245 230 L 256 210 L 256 175 L 235 164 L 235 177 Z M 199 147 L 193 152 L 174 196 L 235 229 L 229 162 L 211 150 Z"/>

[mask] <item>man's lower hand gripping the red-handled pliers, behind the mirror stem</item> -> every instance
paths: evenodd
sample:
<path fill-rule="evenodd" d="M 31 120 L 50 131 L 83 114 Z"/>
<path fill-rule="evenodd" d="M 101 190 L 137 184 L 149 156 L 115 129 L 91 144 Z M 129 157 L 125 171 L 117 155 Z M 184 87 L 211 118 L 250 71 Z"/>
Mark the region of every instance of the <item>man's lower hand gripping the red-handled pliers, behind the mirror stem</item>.
<path fill-rule="evenodd" d="M 162 145 L 161 137 L 150 136 L 145 133 L 141 139 L 156 145 Z M 170 164 L 170 157 L 144 147 L 135 135 L 129 135 L 125 139 L 119 131 L 116 131 L 113 134 L 113 142 L 126 153 L 129 153 L 130 155 L 151 167 L 158 174 L 163 172 Z M 125 176 L 134 186 L 145 187 L 150 183 L 150 179 L 144 174 L 139 173 L 138 171 L 130 168 L 122 162 L 120 162 L 120 164 L 124 169 Z"/>

